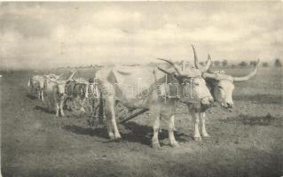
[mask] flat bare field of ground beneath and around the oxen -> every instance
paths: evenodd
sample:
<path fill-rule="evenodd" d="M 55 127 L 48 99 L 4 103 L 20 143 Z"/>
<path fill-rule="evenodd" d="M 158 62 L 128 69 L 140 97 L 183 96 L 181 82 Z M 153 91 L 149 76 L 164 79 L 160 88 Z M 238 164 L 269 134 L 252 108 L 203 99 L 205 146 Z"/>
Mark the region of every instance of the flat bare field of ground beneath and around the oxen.
<path fill-rule="evenodd" d="M 233 75 L 248 72 L 227 70 Z M 161 150 L 150 147 L 152 120 L 146 112 L 119 125 L 121 142 L 109 141 L 105 128 L 92 129 L 85 117 L 73 112 L 56 119 L 40 100 L 28 96 L 28 78 L 35 73 L 44 72 L 1 72 L 3 176 L 283 175 L 281 69 L 260 68 L 255 78 L 235 83 L 233 111 L 210 109 L 211 137 L 201 142 L 193 141 L 191 117 L 180 104 L 176 118 L 180 147 L 169 146 L 166 122 L 161 121 Z M 76 76 L 93 74 L 89 69 Z"/>

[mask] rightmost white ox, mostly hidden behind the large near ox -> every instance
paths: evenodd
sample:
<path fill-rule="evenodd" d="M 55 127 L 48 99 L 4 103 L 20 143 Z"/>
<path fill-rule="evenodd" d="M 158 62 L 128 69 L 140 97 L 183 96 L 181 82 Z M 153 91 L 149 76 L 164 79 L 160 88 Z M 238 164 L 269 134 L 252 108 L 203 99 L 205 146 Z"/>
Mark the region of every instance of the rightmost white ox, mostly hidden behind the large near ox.
<path fill-rule="evenodd" d="M 193 45 L 192 45 L 193 46 Z M 211 73 L 209 71 L 211 66 L 211 58 L 208 55 L 208 64 L 206 66 L 202 66 L 199 64 L 198 57 L 196 51 L 193 47 L 193 54 L 194 54 L 194 65 L 196 68 L 200 69 L 202 72 L 202 77 L 205 79 L 208 89 L 211 92 L 211 95 L 214 97 L 217 103 L 221 104 L 226 109 L 231 109 L 233 106 L 232 101 L 232 92 L 234 89 L 234 82 L 239 81 L 248 81 L 251 77 L 255 76 L 257 72 L 259 60 L 255 65 L 255 69 L 253 72 L 249 73 L 246 76 L 242 77 L 233 77 L 232 75 L 225 74 L 224 72 L 215 72 Z M 208 133 L 205 127 L 205 109 L 200 109 L 196 111 L 195 109 L 190 110 L 191 114 L 193 115 L 194 120 L 194 139 L 197 141 L 201 140 L 200 132 L 199 132 L 199 122 L 200 122 L 200 129 L 201 135 L 203 137 L 208 137 Z"/>

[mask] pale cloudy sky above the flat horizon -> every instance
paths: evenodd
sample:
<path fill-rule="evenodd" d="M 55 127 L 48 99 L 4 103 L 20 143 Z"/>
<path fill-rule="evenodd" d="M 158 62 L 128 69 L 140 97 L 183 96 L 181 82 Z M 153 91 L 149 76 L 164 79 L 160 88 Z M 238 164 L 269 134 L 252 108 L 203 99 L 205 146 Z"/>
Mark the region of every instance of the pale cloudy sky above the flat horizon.
<path fill-rule="evenodd" d="M 2 66 L 283 58 L 283 2 L 0 3 Z"/>

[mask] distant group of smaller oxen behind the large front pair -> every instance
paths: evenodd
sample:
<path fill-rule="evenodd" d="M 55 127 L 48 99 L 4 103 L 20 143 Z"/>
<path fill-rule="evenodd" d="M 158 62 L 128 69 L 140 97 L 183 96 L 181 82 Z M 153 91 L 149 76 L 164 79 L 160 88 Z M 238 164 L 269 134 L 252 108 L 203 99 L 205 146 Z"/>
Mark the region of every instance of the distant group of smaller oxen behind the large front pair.
<path fill-rule="evenodd" d="M 83 78 L 74 79 L 75 72 L 67 78 L 62 79 L 63 74 L 54 73 L 44 75 L 34 75 L 28 81 L 30 94 L 41 99 L 48 112 L 56 112 L 56 116 L 65 116 L 64 107 L 85 112 L 86 99 L 98 98 L 98 88 L 94 85 L 94 80 L 86 81 Z M 44 98 L 45 97 L 45 98 Z M 93 106 L 89 105 L 89 109 Z"/>

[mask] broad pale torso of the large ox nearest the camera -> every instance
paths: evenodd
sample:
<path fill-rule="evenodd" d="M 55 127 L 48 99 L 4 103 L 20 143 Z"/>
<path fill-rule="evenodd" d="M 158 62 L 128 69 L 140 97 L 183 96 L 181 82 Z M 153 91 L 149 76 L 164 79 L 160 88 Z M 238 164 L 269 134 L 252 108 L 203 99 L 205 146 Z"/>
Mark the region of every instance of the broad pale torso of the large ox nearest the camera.
<path fill-rule="evenodd" d="M 128 107 L 149 108 L 154 102 L 177 99 L 183 94 L 173 74 L 166 75 L 154 67 L 117 66 L 99 70 L 96 76 L 104 97 L 114 96 Z M 192 98 L 195 102 L 200 100 Z"/>

